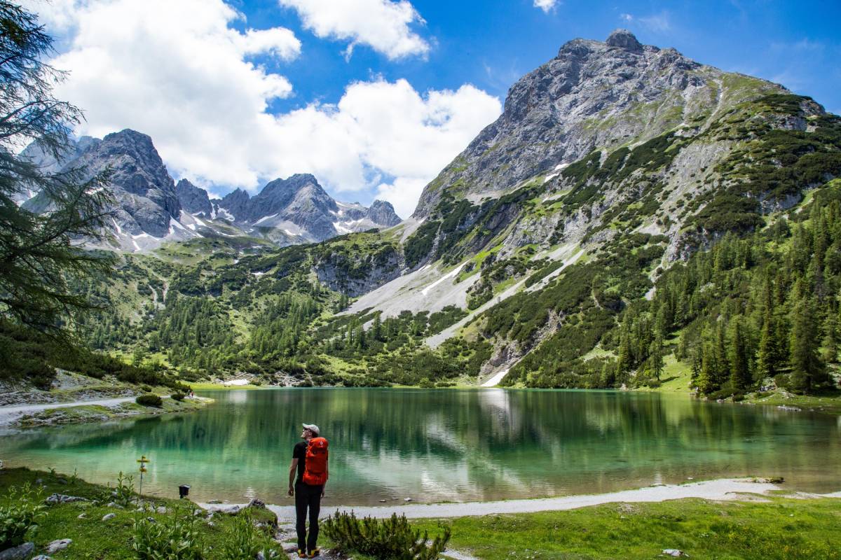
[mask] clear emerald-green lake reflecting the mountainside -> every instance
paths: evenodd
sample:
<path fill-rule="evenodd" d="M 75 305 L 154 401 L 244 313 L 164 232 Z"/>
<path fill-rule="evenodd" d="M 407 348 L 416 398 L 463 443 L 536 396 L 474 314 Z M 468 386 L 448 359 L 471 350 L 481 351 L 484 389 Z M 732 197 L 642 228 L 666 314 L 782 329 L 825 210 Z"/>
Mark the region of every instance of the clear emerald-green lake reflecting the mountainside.
<path fill-rule="evenodd" d="M 841 417 L 685 395 L 574 390 L 204 391 L 203 411 L 0 435 L 8 466 L 113 482 L 151 458 L 144 492 L 288 505 L 301 422 L 331 443 L 327 505 L 600 493 L 686 479 L 784 476 L 841 490 Z"/>

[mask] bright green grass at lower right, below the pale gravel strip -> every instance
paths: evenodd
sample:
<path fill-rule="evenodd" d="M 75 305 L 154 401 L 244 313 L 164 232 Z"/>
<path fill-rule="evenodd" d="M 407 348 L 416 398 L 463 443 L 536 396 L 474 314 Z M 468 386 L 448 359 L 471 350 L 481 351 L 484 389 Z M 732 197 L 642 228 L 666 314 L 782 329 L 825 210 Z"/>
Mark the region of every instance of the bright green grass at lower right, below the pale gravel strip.
<path fill-rule="evenodd" d="M 768 503 L 674 500 L 607 504 L 536 514 L 452 520 L 450 547 L 483 560 L 841 558 L 841 500 L 770 498 Z M 430 534 L 437 521 L 413 523 Z"/>

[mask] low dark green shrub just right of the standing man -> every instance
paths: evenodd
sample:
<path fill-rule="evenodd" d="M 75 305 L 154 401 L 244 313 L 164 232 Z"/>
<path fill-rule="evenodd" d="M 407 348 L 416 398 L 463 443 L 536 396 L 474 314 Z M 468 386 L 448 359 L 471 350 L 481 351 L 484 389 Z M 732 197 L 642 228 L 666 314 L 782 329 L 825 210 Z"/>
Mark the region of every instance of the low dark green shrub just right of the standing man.
<path fill-rule="evenodd" d="M 387 520 L 366 517 L 359 521 L 353 512 L 336 511 L 325 521 L 324 531 L 340 552 L 353 551 L 383 560 L 435 560 L 450 540 L 450 528 L 445 526 L 443 535 L 428 544 L 426 531 L 421 536 L 421 531 L 410 527 L 406 516 L 397 514 Z"/>

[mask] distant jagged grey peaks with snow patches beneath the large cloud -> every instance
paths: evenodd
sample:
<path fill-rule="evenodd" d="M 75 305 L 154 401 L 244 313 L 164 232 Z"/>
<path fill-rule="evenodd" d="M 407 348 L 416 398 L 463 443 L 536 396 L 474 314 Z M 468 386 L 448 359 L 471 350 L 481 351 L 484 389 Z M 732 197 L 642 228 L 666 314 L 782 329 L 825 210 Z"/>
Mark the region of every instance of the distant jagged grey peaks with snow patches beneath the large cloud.
<path fill-rule="evenodd" d="M 207 191 L 186 179 L 175 185 L 152 139 L 130 129 L 103 139 L 82 137 L 59 160 L 37 144 L 22 155 L 45 172 L 81 168 L 93 176 L 109 169 L 114 243 L 129 251 L 205 235 L 259 237 L 278 245 L 309 243 L 400 221 L 388 202 L 374 201 L 368 209 L 334 201 L 313 175 L 271 181 L 254 197 L 237 190 L 211 201 Z M 29 204 L 38 207 L 35 201 Z"/>

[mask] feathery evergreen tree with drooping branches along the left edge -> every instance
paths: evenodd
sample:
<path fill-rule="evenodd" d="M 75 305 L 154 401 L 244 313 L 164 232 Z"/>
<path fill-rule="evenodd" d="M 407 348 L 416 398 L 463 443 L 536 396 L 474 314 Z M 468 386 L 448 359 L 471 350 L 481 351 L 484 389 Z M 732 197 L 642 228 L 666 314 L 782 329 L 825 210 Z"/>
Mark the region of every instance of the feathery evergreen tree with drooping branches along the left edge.
<path fill-rule="evenodd" d="M 99 187 L 107 177 L 45 173 L 16 154 L 20 144 L 36 142 L 61 158 L 82 118 L 52 95 L 63 74 L 44 62 L 51 52 L 34 14 L 0 0 L 0 318 L 61 334 L 61 317 L 96 307 L 74 282 L 107 274 L 114 260 L 72 243 L 103 240 L 111 198 Z M 27 191 L 39 194 L 21 207 L 15 199 Z"/>

